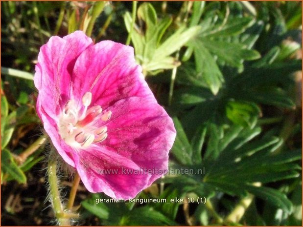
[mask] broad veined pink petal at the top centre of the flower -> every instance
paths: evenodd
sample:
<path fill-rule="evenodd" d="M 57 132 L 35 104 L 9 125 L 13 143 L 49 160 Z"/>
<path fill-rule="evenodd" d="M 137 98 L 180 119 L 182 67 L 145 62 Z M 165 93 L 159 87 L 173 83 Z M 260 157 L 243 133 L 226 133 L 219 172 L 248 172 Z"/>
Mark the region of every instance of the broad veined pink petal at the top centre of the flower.
<path fill-rule="evenodd" d="M 71 86 L 75 100 L 91 91 L 92 103 L 103 109 L 127 97 L 154 97 L 135 62 L 133 48 L 113 41 L 101 41 L 79 56 Z"/>

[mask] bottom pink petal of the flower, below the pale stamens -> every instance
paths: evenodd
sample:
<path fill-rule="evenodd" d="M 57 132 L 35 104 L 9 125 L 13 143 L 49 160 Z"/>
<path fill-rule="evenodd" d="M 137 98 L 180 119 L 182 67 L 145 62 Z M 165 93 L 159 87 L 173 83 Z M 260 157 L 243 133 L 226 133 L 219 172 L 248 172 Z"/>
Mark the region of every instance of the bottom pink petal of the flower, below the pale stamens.
<path fill-rule="evenodd" d="M 116 199 L 134 198 L 144 188 L 150 175 L 127 173 L 140 170 L 131 160 L 107 146 L 90 146 L 80 150 L 77 166 L 80 178 L 90 192 L 104 192 Z M 124 169 L 124 170 L 123 170 Z M 109 171 L 109 172 L 105 172 Z"/>

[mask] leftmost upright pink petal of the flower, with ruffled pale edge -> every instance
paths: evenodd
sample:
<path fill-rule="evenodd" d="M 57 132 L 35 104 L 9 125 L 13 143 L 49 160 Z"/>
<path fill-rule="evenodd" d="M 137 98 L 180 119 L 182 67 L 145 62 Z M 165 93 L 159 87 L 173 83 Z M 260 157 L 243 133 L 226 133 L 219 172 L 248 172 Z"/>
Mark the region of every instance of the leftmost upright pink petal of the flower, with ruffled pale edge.
<path fill-rule="evenodd" d="M 39 103 L 53 119 L 70 97 L 71 73 L 77 57 L 92 44 L 91 38 L 76 31 L 63 39 L 51 37 L 41 47 L 34 83 L 39 90 Z"/>

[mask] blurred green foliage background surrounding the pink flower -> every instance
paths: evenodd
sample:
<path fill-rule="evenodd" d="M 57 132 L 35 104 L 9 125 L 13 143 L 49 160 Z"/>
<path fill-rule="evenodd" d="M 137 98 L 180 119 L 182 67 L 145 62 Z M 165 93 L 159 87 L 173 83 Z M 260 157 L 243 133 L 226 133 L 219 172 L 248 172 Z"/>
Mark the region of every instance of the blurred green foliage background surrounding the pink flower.
<path fill-rule="evenodd" d="M 192 203 L 96 204 L 80 185 L 72 224 L 302 226 L 301 1 L 1 1 L 1 225 L 56 225 L 33 74 L 40 46 L 75 30 L 135 48 L 177 129 L 169 167 L 205 173 L 137 197 Z"/>

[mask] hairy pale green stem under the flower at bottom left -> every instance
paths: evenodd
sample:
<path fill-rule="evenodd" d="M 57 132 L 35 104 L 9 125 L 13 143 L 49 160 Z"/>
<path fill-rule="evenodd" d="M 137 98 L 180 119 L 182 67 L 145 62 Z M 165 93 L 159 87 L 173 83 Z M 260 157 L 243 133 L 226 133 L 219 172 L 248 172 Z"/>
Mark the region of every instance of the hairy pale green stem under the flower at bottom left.
<path fill-rule="evenodd" d="M 60 192 L 58 189 L 58 178 L 56 174 L 57 160 L 49 160 L 47 165 L 47 174 L 49 180 L 49 193 L 52 208 L 55 213 L 55 217 L 60 226 L 70 226 L 70 218 L 67 217 L 63 210 L 63 205 L 60 200 Z"/>

